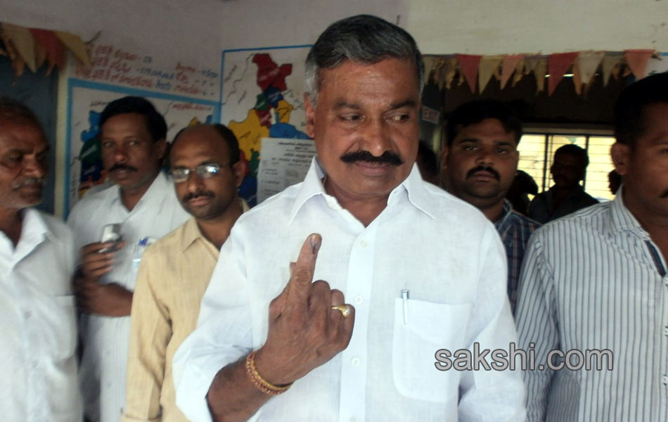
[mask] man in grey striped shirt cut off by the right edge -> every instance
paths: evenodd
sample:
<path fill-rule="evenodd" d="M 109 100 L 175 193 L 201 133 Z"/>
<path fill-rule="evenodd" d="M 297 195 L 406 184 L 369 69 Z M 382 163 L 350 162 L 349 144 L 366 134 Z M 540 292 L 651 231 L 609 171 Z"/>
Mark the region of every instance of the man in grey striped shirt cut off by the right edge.
<path fill-rule="evenodd" d="M 615 200 L 527 245 L 517 322 L 537 365 L 525 373 L 529 421 L 668 419 L 668 73 L 622 92 L 615 136 Z"/>

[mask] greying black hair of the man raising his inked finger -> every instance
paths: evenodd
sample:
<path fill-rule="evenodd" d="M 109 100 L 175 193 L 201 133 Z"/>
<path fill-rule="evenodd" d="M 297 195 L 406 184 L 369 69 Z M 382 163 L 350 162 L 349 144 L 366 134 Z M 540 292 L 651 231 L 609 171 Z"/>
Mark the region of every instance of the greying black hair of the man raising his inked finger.
<path fill-rule="evenodd" d="M 425 64 L 411 34 L 372 15 L 351 16 L 329 25 L 306 58 L 305 83 L 311 103 L 317 105 L 321 69 L 336 68 L 345 60 L 373 64 L 386 58 L 411 60 L 422 89 Z"/>

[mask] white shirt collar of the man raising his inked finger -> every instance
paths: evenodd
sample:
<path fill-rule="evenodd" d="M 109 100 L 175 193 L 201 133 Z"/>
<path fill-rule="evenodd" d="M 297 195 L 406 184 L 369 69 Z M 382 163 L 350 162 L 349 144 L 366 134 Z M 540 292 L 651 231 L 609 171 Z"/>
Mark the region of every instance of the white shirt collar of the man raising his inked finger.
<path fill-rule="evenodd" d="M 332 198 L 325 192 L 325 188 L 322 184 L 323 177 L 325 177 L 325 171 L 318 162 L 317 156 L 314 156 L 311 160 L 311 167 L 309 167 L 309 171 L 297 191 L 295 203 L 292 210 L 290 210 L 290 219 L 288 222 L 292 222 L 295 215 L 297 215 L 297 212 L 299 212 L 304 203 L 310 198 L 313 198 L 314 196 L 323 196 L 325 199 Z M 422 177 L 420 177 L 418 166 L 413 164 L 409 177 L 406 177 L 399 186 L 390 192 L 390 196 L 387 199 L 387 205 L 393 203 L 395 198 L 401 195 L 402 192 L 406 192 L 409 202 L 413 204 L 414 207 L 418 208 L 418 210 L 424 212 L 426 215 L 435 218 L 437 210 L 432 203 L 433 201 L 429 198 L 429 193 L 425 186 L 426 183 L 427 182 L 423 181 Z"/>

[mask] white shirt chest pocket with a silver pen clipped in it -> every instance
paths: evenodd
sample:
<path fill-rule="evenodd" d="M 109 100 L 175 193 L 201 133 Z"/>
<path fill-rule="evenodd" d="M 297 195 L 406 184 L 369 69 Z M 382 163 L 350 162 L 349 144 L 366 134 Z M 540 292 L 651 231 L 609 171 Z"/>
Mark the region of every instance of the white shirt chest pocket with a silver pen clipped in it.
<path fill-rule="evenodd" d="M 394 299 L 392 378 L 399 393 L 411 399 L 446 403 L 457 401 L 460 373 L 439 371 L 435 354 L 439 349 L 458 350 L 463 344 L 473 305 Z"/>

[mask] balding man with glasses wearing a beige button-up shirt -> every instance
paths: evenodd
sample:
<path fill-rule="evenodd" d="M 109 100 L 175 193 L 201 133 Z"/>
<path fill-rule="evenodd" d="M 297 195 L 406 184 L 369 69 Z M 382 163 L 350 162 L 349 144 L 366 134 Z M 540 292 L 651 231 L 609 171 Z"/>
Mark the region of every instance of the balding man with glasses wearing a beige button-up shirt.
<path fill-rule="evenodd" d="M 176 195 L 193 217 L 144 252 L 131 309 L 122 421 L 186 421 L 174 404 L 172 357 L 195 329 L 219 249 L 243 212 L 234 134 L 222 124 L 176 135 L 170 153 Z"/>

